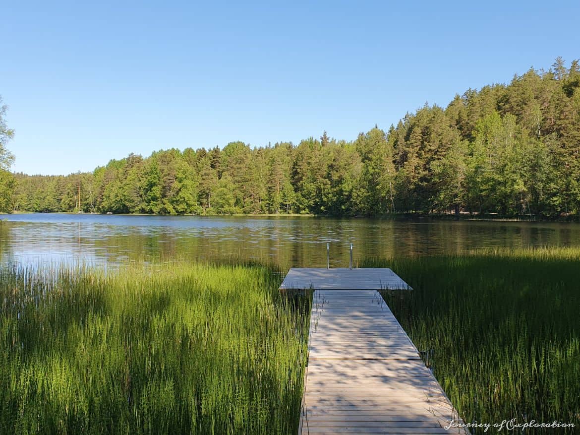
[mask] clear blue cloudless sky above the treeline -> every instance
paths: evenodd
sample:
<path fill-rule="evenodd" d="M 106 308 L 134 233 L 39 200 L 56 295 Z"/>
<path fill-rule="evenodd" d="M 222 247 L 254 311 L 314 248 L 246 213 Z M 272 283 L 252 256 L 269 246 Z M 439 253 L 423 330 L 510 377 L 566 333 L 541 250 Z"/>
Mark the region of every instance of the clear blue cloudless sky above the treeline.
<path fill-rule="evenodd" d="M 13 170 L 387 129 L 580 57 L 580 2 L 0 0 Z"/>

